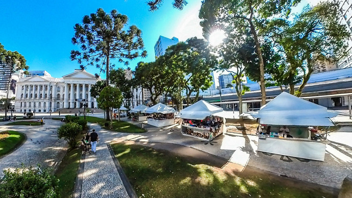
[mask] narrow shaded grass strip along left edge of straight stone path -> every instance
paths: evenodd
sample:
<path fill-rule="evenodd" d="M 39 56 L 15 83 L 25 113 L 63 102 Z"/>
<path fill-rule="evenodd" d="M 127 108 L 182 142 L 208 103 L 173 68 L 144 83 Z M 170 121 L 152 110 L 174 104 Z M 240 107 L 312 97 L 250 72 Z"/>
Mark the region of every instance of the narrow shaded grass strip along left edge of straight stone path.
<path fill-rule="evenodd" d="M 76 137 L 78 144 L 83 134 Z M 55 176 L 59 179 L 60 197 L 70 198 L 73 195 L 74 182 L 76 182 L 78 166 L 80 165 L 82 150 L 74 148 L 67 151 L 64 159 L 60 163 L 55 172 Z"/>

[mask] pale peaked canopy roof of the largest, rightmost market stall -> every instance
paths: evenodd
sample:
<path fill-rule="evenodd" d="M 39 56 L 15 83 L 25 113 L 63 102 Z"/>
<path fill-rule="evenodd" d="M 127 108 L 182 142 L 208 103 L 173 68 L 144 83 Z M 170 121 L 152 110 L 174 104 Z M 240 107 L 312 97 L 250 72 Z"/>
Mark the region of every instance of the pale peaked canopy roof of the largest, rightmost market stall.
<path fill-rule="evenodd" d="M 338 115 L 336 111 L 286 92 L 276 96 L 259 111 L 248 113 L 254 118 L 260 118 L 260 123 L 265 125 L 321 127 L 334 126 L 330 118 Z"/>

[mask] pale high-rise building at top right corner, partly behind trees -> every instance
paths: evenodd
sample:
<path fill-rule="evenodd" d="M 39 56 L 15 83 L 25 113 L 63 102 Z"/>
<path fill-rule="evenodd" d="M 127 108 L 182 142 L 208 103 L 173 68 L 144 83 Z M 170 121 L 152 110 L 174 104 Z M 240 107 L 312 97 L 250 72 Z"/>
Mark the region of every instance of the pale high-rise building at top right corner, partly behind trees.
<path fill-rule="evenodd" d="M 333 0 L 340 5 L 341 19 L 340 23 L 346 24 L 347 29 L 352 32 L 352 1 L 351 0 Z M 349 55 L 339 61 L 337 66 L 339 68 L 346 68 L 352 66 L 352 37 L 348 39 L 348 52 Z"/>

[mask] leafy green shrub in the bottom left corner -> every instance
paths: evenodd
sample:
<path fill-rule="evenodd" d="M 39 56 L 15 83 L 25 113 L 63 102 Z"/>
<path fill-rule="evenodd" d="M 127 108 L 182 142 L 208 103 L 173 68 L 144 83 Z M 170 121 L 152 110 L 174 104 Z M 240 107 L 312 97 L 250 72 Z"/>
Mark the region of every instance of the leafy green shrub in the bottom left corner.
<path fill-rule="evenodd" d="M 0 182 L 1 197 L 59 197 L 58 182 L 49 169 L 16 168 L 4 170 L 5 179 Z"/>

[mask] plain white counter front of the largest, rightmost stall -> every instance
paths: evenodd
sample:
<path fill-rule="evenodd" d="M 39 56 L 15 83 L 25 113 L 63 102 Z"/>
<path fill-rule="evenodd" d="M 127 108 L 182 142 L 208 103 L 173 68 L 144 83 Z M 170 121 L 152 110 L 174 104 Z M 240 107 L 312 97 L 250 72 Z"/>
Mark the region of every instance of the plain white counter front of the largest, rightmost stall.
<path fill-rule="evenodd" d="M 258 139 L 258 151 L 324 161 L 326 143 L 328 141 L 266 137 L 266 139 Z"/>

